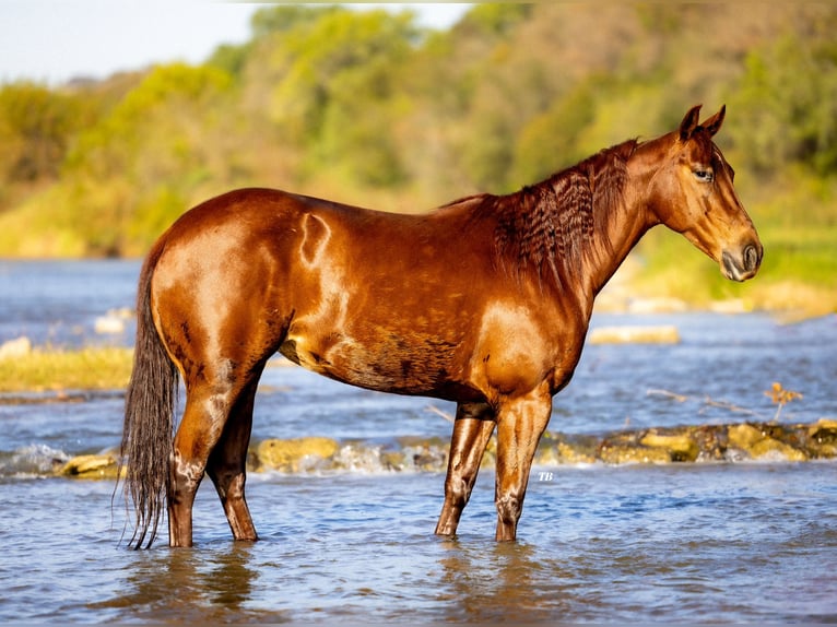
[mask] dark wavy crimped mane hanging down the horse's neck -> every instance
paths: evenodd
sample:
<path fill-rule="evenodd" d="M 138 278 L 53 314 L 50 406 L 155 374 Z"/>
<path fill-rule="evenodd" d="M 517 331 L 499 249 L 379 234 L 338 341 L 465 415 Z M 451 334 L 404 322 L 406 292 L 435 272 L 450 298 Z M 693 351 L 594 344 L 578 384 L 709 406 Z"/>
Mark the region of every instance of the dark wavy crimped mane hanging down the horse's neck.
<path fill-rule="evenodd" d="M 579 164 L 516 193 L 493 199 L 494 249 L 498 265 L 520 275 L 532 267 L 557 285 L 573 283 L 591 246 L 610 252 L 609 215 L 627 180 L 636 140 L 604 149 Z"/>

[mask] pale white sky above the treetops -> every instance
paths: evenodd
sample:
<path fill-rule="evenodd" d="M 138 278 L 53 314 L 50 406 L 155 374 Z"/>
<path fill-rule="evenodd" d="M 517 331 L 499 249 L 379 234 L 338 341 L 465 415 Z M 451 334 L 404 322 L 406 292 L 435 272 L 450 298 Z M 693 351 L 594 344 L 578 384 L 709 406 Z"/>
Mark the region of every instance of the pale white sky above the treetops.
<path fill-rule="evenodd" d="M 58 85 L 104 79 L 152 63 L 200 63 L 221 44 L 250 36 L 250 16 L 266 3 L 211 0 L 0 0 L 0 83 Z M 463 3 L 350 4 L 411 9 L 424 26 L 445 28 Z"/>

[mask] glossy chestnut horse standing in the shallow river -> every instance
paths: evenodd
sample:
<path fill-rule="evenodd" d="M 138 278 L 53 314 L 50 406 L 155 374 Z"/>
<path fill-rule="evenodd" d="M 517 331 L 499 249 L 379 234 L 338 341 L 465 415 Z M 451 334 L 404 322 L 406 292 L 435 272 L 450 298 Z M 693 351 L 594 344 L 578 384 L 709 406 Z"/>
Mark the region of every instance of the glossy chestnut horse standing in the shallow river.
<path fill-rule="evenodd" d="M 552 399 L 573 377 L 593 300 L 651 227 L 683 234 L 732 281 L 763 247 L 692 107 L 515 193 L 398 214 L 263 188 L 184 213 L 140 272 L 121 443 L 129 545 L 192 545 L 208 474 L 236 541 L 256 389 L 276 353 L 338 381 L 457 403 L 435 533 L 456 534 L 496 429 L 497 541 L 514 541 Z M 179 380 L 186 390 L 175 431 Z"/>

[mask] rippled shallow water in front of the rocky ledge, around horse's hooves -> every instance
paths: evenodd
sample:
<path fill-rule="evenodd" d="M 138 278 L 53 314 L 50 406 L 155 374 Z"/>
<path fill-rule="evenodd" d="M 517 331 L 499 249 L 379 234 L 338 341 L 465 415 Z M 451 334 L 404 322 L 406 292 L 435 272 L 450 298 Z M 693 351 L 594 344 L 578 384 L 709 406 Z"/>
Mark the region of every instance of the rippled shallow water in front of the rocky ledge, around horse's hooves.
<path fill-rule="evenodd" d="M 837 464 L 549 472 L 515 544 L 490 473 L 456 540 L 437 474 L 258 475 L 260 542 L 202 489 L 197 548 L 148 552 L 117 546 L 106 482 L 5 483 L 0 620 L 837 620 Z"/>

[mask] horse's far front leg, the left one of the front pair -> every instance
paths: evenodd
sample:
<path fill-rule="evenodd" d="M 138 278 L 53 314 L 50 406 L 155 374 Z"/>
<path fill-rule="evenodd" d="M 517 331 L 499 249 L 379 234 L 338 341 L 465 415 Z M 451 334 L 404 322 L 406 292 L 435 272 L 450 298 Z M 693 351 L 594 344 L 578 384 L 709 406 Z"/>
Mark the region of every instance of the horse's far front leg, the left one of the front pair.
<path fill-rule="evenodd" d="M 457 405 L 450 439 L 445 504 L 436 524 L 438 535 L 453 535 L 480 472 L 485 447 L 494 431 L 494 411 L 485 403 Z"/>

